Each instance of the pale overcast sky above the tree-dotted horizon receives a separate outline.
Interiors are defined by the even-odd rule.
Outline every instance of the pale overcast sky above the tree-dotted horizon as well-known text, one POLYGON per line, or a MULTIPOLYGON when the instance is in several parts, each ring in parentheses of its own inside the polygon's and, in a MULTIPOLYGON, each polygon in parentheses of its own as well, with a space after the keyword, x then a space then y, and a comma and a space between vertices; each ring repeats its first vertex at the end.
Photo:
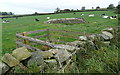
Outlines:
POLYGON ((108 7, 109 4, 118 5, 120 0, 1 0, 1 12, 13 12, 14 14, 32 14, 52 13, 58 7, 60 9, 81 9, 85 6, 86 9, 108 7))

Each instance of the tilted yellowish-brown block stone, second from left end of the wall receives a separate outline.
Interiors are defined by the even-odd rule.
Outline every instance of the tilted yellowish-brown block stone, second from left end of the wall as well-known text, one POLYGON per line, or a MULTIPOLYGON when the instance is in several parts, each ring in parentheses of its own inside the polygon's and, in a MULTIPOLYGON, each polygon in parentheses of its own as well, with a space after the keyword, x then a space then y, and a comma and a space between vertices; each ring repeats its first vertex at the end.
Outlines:
POLYGON ((9 65, 10 67, 13 67, 19 64, 19 60, 17 60, 15 57, 10 55, 9 53, 6 53, 1 60, 5 62, 7 65, 9 65))

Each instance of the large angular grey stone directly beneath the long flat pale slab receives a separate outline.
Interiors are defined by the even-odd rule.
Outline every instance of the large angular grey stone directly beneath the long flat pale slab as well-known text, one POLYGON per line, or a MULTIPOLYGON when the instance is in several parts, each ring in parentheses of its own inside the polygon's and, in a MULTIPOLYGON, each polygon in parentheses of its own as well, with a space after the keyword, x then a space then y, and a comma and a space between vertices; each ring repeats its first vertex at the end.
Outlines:
POLYGON ((60 62, 66 61, 71 56, 71 53, 69 53, 67 50, 59 49, 58 52, 55 55, 55 58, 60 62))

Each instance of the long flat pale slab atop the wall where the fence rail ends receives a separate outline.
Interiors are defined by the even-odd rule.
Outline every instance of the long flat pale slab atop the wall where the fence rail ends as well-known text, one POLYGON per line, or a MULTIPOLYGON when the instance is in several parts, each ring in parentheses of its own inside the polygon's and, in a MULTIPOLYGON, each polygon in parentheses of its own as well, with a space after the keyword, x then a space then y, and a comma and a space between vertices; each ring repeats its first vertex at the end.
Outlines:
POLYGON ((63 44, 57 44, 54 46, 55 48, 58 48, 58 49, 66 49, 70 52, 73 52, 74 50, 76 50, 77 48, 74 47, 74 46, 70 46, 70 45, 63 45, 63 44))

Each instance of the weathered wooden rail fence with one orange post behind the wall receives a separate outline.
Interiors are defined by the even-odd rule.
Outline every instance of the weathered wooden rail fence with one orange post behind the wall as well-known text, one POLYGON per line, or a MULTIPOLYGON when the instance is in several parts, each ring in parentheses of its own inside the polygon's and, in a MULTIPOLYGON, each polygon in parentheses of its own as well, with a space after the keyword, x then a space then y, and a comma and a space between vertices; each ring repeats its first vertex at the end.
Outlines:
MULTIPOLYGON (((66 31, 66 30, 57 30, 57 29, 44 29, 44 30, 37 30, 37 31, 30 31, 30 32, 23 32, 23 33, 16 33, 16 44, 17 47, 21 47, 21 46, 25 46, 28 49, 31 50, 40 50, 36 47, 32 47, 31 45, 46 45, 48 47, 54 48, 54 44, 51 43, 50 41, 56 41, 56 42, 61 42, 61 43, 66 43, 65 41, 59 39, 59 40, 52 40, 51 36, 51 32, 63 32, 63 33, 74 33, 74 34, 83 34, 81 32, 74 32, 74 31, 66 31), (40 33, 40 32, 47 32, 46 34, 41 34, 39 36, 34 36, 34 37, 28 37, 28 34, 33 34, 33 33, 40 33), (39 40, 38 38, 42 38, 42 37, 47 37, 48 41, 42 41, 39 40), (22 41, 20 41, 21 39, 22 41), (23 43, 24 42, 24 43, 23 43), (29 44, 28 44, 29 43, 29 44)), ((78 39, 79 35, 67 35, 67 34, 55 34, 58 37, 67 37, 67 38, 73 38, 73 39, 78 39)))

